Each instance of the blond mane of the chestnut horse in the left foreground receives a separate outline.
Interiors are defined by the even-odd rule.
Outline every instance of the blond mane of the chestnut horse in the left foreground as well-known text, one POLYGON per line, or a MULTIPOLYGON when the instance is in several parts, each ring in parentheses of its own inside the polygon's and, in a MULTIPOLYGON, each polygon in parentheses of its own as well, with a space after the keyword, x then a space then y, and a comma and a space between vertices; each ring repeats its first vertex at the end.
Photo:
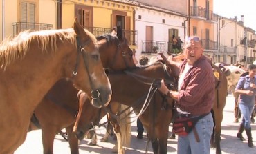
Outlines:
MULTIPOLYGON (((16 59, 22 59, 31 44, 38 44, 42 52, 57 50, 57 40, 71 40, 75 43, 75 32, 72 28, 66 30, 42 30, 42 31, 31 31, 25 30, 20 32, 17 37, 13 39, 7 37, 0 44, 0 67, 6 68, 8 64, 12 63, 16 59)), ((76 44, 75 44, 76 46, 76 44)))

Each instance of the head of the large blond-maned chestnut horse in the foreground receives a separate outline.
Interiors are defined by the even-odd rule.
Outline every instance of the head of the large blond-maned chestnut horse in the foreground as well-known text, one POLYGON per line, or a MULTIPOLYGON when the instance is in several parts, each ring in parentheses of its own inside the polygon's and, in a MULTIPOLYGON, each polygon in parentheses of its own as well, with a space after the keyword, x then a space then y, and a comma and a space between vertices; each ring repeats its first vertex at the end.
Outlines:
MULTIPOLYGON (((79 89, 89 95, 92 104, 101 107, 109 104, 111 99, 111 86, 104 72, 96 38, 88 30, 84 30, 77 18, 73 24, 76 35, 77 52, 73 82, 79 89), (86 70, 86 71, 84 71, 86 70)), ((68 57, 66 57, 68 58, 68 57)))

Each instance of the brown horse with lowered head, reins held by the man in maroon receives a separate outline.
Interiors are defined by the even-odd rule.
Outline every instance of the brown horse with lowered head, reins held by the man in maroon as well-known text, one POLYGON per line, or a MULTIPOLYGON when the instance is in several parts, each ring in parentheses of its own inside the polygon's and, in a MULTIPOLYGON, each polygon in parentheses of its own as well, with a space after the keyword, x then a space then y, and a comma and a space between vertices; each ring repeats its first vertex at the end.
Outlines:
MULTIPOLYGON (((167 77, 165 68, 161 63, 134 68, 134 70, 126 70, 122 73, 109 74, 109 81, 111 81, 113 90, 109 110, 116 114, 120 104, 131 106, 147 130, 154 153, 167 153, 168 129, 172 119, 172 106, 174 102, 171 98, 164 97, 157 90, 160 79, 166 80, 166 78, 170 79, 170 77, 167 77), (165 99, 167 99, 167 104, 163 102, 165 99)), ((173 85, 174 81, 169 81, 169 83, 173 85)), ((82 110, 80 106, 77 122, 74 127, 74 131, 76 131, 77 138, 79 139, 82 139, 91 128, 91 122, 96 122, 97 124, 101 117, 106 114, 104 111, 101 111, 102 109, 90 107, 89 101, 86 101, 84 103, 86 105, 84 105, 82 110), (96 114, 91 115, 92 113, 96 114)), ((114 116, 109 116, 109 120, 113 125, 118 142, 120 142, 119 137, 122 133, 120 132, 118 122, 114 116)), ((119 154, 124 153, 124 151, 120 151, 121 147, 118 148, 119 154)))

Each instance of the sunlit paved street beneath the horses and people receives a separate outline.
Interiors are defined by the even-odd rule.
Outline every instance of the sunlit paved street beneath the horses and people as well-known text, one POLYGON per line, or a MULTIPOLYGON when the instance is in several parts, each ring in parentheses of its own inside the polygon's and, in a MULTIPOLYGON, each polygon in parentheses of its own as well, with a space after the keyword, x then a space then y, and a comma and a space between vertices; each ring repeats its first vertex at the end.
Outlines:
MULTIPOLYGON (((248 148, 247 140, 244 142, 239 141, 237 139, 237 130, 239 123, 233 123, 233 106, 234 106, 234 98, 232 95, 228 95, 226 107, 224 109, 224 119, 222 122, 222 135, 221 135, 221 149, 223 154, 255 154, 256 152, 256 124, 252 124, 253 127, 253 144, 255 145, 254 148, 248 148)), ((241 119, 239 119, 241 120, 241 119)), ((145 149, 147 146, 147 137, 144 134, 143 139, 136 138, 136 121, 131 124, 131 146, 127 148, 125 153, 127 154, 140 154, 145 153, 145 149)), ((170 131, 172 128, 170 127, 170 131)), ((100 138, 103 137, 105 133, 104 128, 98 129, 98 146, 88 146, 87 143, 89 139, 84 139, 80 142, 80 153, 81 154, 97 154, 97 153, 104 153, 104 154, 111 154, 111 149, 115 144, 115 140, 111 137, 109 142, 100 142, 100 138)), ((171 132, 170 132, 171 133, 171 132)), ((246 137, 246 133, 244 132, 244 137, 246 137)), ((167 144, 167 151, 168 153, 176 153, 176 139, 168 139, 167 144)), ((54 149, 55 154, 69 154, 68 142, 66 142, 60 135, 56 135, 54 149)), ((147 148, 148 153, 152 153, 152 147, 149 143, 149 147, 147 148)), ((40 154, 43 153, 42 148, 42 139, 41 139, 41 131, 32 131, 28 133, 26 142, 20 146, 15 154, 40 154)), ((211 149, 211 154, 214 154, 215 150, 211 149)))

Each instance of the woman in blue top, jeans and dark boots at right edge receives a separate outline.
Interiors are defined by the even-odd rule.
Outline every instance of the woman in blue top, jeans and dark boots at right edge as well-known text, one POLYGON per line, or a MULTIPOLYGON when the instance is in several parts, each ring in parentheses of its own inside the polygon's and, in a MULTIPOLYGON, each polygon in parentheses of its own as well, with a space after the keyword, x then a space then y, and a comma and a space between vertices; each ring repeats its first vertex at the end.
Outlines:
POLYGON ((241 115, 243 118, 239 126, 239 131, 237 133, 237 138, 244 140, 242 133, 244 129, 246 130, 246 135, 248 137, 248 146, 253 147, 253 138, 251 133, 251 119, 250 115, 253 113, 255 106, 255 93, 256 93, 256 65, 250 64, 248 66, 248 75, 245 77, 240 77, 237 86, 235 88, 235 93, 239 94, 239 109, 241 110, 241 115))

